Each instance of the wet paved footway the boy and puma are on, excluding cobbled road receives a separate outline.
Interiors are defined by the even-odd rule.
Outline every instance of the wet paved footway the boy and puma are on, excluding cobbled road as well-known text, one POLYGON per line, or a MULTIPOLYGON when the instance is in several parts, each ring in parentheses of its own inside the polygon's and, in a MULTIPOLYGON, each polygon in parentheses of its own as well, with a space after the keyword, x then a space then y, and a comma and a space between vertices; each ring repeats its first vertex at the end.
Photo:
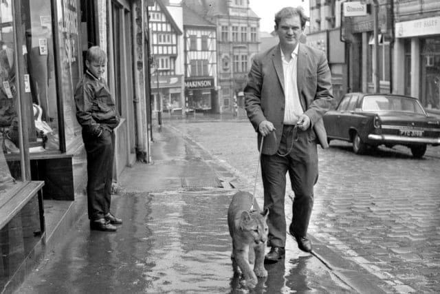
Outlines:
POLYGON ((232 272, 226 215, 236 187, 253 185, 174 127, 154 135, 153 162, 126 168, 112 198, 120 229, 90 231, 84 214, 17 293, 356 292, 292 238, 285 260, 245 288, 232 272))

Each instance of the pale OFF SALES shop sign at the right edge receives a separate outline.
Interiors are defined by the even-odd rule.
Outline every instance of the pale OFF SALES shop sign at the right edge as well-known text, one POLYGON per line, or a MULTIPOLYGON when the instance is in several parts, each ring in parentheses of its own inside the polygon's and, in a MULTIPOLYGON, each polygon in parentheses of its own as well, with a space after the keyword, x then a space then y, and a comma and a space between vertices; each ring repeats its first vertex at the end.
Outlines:
POLYGON ((440 34, 440 17, 401 21, 395 24, 397 38, 440 34))

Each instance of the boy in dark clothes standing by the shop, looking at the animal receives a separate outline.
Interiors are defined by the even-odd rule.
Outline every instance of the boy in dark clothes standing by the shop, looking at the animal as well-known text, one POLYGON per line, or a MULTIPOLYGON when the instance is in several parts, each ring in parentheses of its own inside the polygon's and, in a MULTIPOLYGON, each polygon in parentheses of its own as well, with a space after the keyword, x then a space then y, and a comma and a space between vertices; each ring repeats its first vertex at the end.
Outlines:
POLYGON ((83 127, 83 142, 87 151, 87 212, 90 229, 116 231, 120 218, 110 213, 111 182, 115 136, 119 124, 115 101, 102 75, 107 55, 94 46, 87 50, 87 70, 76 85, 76 118, 83 127))

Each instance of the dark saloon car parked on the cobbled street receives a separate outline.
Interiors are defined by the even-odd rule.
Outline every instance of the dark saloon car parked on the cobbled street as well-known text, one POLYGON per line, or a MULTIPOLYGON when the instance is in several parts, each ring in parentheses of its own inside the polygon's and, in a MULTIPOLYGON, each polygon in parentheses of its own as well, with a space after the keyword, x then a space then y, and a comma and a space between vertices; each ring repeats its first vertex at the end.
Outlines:
POLYGON ((348 93, 323 120, 329 142, 351 142, 355 154, 368 147, 404 145, 421 158, 427 145, 440 145, 440 119, 426 114, 410 96, 348 93))

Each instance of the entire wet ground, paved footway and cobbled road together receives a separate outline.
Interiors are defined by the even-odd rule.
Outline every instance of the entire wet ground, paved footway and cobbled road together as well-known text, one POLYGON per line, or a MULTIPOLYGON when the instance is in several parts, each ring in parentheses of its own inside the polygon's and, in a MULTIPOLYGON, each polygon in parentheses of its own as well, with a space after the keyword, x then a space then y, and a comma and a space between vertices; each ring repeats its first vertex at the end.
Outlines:
MULTIPOLYGON (((90 231, 84 214, 17 293, 440 292, 438 149, 421 160, 404 149, 356 156, 338 141, 319 149, 314 255, 287 238, 285 260, 248 291, 232 273, 226 213, 237 189, 254 193, 250 123, 164 120, 153 139, 153 162, 126 168, 113 196, 122 227, 90 231)), ((254 195, 262 206, 259 176, 254 195)))

